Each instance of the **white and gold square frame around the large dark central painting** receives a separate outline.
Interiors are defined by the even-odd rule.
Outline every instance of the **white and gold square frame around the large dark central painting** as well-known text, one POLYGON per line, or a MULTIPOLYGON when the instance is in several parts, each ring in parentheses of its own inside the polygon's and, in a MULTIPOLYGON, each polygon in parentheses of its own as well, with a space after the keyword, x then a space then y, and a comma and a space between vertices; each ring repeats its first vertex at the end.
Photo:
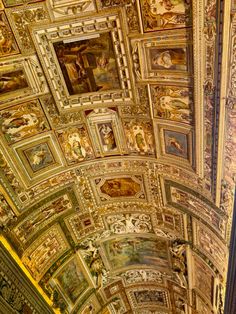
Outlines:
POLYGON ((82 105, 127 102, 132 100, 132 88, 129 75, 124 30, 118 15, 95 16, 93 19, 33 27, 32 36, 59 109, 77 108, 82 105), (117 69, 120 76, 121 89, 90 94, 69 95, 64 78, 59 69, 53 43, 63 40, 76 41, 89 39, 94 34, 110 32, 114 44, 117 69))

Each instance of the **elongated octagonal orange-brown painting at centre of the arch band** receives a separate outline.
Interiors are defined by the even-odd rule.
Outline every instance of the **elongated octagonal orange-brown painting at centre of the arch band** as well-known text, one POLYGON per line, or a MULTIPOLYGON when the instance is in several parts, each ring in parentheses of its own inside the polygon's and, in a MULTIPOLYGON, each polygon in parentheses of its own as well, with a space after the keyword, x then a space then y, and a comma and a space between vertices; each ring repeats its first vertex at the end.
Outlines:
POLYGON ((140 192, 141 187, 132 178, 113 178, 106 180, 100 190, 110 197, 129 197, 140 192))

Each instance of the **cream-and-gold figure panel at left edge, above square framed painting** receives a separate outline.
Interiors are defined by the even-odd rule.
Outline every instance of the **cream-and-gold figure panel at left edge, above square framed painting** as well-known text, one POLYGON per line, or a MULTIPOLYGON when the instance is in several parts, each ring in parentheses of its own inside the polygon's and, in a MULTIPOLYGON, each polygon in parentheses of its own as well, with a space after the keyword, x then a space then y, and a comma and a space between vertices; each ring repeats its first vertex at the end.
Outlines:
POLYGON ((0 112, 0 126, 9 143, 50 129, 37 101, 13 106, 0 112))

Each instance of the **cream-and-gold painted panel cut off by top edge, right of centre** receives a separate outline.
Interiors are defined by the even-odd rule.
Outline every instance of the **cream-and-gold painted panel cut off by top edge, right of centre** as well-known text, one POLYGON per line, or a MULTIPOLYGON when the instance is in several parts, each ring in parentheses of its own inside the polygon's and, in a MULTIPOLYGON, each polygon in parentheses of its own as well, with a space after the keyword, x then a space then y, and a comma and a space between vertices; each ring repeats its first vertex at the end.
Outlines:
POLYGON ((191 0, 141 0, 146 32, 190 25, 191 0))

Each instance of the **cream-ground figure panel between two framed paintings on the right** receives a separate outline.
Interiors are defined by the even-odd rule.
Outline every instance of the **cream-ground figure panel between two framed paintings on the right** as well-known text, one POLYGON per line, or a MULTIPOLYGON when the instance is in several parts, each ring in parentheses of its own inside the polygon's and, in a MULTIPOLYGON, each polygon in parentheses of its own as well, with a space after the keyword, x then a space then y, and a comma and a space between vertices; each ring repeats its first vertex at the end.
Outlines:
POLYGON ((189 88, 152 86, 151 94, 156 118, 191 123, 192 95, 189 88))

